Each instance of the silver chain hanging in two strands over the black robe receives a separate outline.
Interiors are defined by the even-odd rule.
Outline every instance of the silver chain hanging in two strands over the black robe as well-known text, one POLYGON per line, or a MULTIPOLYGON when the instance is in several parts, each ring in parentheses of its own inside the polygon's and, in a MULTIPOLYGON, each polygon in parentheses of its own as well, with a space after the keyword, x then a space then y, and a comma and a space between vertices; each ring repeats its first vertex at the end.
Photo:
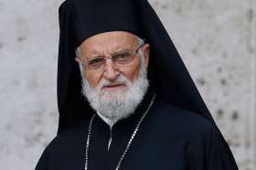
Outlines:
MULTIPOLYGON (((152 100, 151 100, 149 106, 147 107, 146 111, 144 112, 144 115, 142 115, 142 117, 141 117, 139 123, 136 125, 136 127, 135 127, 135 129, 134 129, 134 131, 133 131, 133 135, 131 136, 131 138, 130 138, 128 144, 126 145, 126 148, 125 148, 125 150, 124 150, 124 152, 123 152, 123 155, 121 156, 120 160, 118 161, 118 164, 116 165, 115 170, 119 170, 119 169, 120 169, 121 164, 122 164, 122 162, 123 162, 123 159, 124 159, 125 155, 127 154, 128 150, 129 150, 129 148, 130 148, 130 146, 132 145, 134 136, 137 134, 137 131, 139 130, 140 125, 141 125, 142 122, 144 121, 145 115, 147 115, 149 109, 151 108, 151 106, 153 105, 153 103, 154 103, 154 101, 155 101, 155 96, 156 96, 156 95, 154 94, 154 96, 153 96, 153 98, 152 98, 152 100)), ((85 170, 88 169, 88 151, 89 151, 90 138, 91 138, 91 125, 92 125, 92 122, 93 122, 93 120, 94 120, 94 117, 95 117, 95 114, 92 115, 92 117, 91 117, 91 122, 90 122, 89 129, 88 129, 88 135, 87 135, 87 141, 86 141, 86 151, 85 151, 85 167, 84 167, 85 170)))

